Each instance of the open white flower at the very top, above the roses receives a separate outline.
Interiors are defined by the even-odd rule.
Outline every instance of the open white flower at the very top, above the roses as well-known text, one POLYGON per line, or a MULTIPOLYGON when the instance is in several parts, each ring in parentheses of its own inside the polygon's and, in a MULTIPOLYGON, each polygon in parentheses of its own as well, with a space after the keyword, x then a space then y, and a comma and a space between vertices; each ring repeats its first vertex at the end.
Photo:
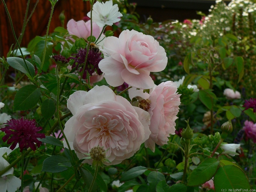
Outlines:
MULTIPOLYGON (((87 13, 87 16, 91 18, 91 12, 87 13)), ((113 23, 120 21, 118 17, 122 16, 122 13, 118 11, 117 4, 113 5, 112 0, 106 3, 97 1, 92 8, 92 21, 97 23, 99 27, 112 26, 113 23)))

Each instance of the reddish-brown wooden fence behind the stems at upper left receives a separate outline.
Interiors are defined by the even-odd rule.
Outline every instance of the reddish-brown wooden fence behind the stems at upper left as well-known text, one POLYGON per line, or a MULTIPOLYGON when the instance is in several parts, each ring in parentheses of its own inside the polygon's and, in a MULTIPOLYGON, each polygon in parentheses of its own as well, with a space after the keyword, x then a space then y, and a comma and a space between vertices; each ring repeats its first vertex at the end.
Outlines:
MULTIPOLYGON (((37 0, 4 0, 8 11, 10 12, 13 28, 17 38, 20 36, 22 30, 28 2, 30 2, 28 6, 29 16, 36 4, 36 1, 37 0)), ((87 12, 90 11, 90 3, 89 1, 84 2, 82 0, 59 0, 54 7, 49 33, 53 32, 54 28, 61 26, 59 15, 63 10, 66 17, 64 22, 64 27, 66 28, 68 20, 74 19, 78 21, 83 19, 87 12)), ((44 36, 46 34, 50 12, 50 1, 38 0, 35 11, 28 21, 21 46, 27 46, 29 41, 35 36, 44 36)), ((15 39, 2 1, 0 1, 0 26, 0 57, 6 57, 11 45, 15 44, 15 39)))

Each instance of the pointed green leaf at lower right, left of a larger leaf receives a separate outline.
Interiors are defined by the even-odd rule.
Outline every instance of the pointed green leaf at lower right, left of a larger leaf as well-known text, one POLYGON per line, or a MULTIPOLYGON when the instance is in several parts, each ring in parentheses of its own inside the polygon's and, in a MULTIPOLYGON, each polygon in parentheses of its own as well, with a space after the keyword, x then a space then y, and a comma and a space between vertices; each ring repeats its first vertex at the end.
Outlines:
POLYGON ((201 164, 194 169, 188 178, 188 186, 202 185, 206 181, 212 179, 213 175, 218 169, 219 161, 215 158, 204 160, 201 164))

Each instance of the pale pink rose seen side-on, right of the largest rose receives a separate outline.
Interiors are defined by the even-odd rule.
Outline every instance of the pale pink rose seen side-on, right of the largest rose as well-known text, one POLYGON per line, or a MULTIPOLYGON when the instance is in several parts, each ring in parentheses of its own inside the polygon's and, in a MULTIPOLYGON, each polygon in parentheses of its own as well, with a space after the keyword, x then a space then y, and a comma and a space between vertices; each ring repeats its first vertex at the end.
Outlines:
POLYGON ((131 99, 137 95, 151 100, 148 109, 151 134, 145 142, 145 146, 155 151, 155 143, 160 146, 167 144, 169 135, 175 134, 180 94, 177 93, 177 85, 172 81, 167 81, 155 86, 149 91, 149 94, 143 93, 143 90, 136 90, 136 88, 129 89, 131 99))

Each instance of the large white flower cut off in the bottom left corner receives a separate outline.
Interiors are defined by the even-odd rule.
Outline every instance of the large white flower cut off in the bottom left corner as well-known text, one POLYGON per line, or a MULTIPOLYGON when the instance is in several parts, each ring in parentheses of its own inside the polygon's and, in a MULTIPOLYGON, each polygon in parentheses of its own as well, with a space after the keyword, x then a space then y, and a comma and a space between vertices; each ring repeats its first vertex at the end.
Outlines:
MULTIPOLYGON (((11 153, 11 149, 3 147, 0 148, 0 171, 2 171, 5 167, 10 165, 4 158, 3 155, 7 153, 11 153)), ((13 176, 13 168, 9 169, 3 175, 0 175, 0 192, 12 192, 17 191, 18 188, 21 186, 21 180, 15 176, 13 176)))

